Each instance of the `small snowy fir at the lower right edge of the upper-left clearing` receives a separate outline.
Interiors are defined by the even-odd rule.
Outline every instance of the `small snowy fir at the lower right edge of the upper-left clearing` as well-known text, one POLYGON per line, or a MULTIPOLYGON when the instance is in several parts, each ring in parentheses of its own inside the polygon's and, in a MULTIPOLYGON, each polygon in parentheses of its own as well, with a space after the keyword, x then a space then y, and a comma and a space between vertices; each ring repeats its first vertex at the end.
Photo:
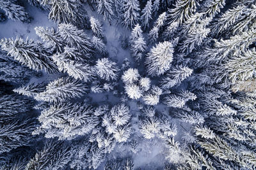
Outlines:
POLYGON ((35 31, 49 48, 56 49, 58 52, 63 51, 64 42, 61 40, 60 34, 55 32, 53 28, 35 27, 35 31))

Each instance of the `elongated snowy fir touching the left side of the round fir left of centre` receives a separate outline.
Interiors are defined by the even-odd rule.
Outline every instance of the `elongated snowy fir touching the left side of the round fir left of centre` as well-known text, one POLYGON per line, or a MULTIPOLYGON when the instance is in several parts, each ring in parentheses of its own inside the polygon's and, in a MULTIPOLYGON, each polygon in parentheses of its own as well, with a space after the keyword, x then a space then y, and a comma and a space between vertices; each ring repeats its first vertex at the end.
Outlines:
POLYGON ((69 59, 66 53, 56 53, 52 56, 59 71, 67 72, 69 76, 84 82, 93 80, 95 70, 85 62, 69 59))

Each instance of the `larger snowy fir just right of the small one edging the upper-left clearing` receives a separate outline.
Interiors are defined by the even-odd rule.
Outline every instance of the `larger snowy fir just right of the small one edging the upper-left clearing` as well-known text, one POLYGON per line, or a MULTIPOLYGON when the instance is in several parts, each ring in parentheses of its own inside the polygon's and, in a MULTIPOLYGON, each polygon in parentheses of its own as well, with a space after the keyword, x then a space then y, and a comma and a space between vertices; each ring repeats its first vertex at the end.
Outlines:
POLYGON ((60 24, 58 25, 58 31, 60 32, 62 40, 67 43, 69 47, 77 48, 85 54, 93 52, 90 38, 83 30, 77 29, 76 26, 71 24, 60 24))

